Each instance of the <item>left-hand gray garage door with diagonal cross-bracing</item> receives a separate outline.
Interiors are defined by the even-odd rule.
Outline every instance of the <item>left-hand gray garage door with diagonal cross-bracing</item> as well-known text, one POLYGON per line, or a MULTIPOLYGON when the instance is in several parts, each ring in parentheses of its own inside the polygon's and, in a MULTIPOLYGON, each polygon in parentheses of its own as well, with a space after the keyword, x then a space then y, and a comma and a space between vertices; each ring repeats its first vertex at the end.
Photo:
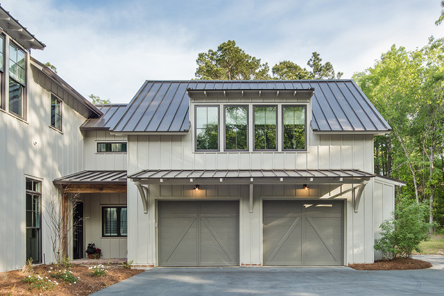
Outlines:
POLYGON ((160 266, 239 265, 239 202, 158 202, 160 266))

